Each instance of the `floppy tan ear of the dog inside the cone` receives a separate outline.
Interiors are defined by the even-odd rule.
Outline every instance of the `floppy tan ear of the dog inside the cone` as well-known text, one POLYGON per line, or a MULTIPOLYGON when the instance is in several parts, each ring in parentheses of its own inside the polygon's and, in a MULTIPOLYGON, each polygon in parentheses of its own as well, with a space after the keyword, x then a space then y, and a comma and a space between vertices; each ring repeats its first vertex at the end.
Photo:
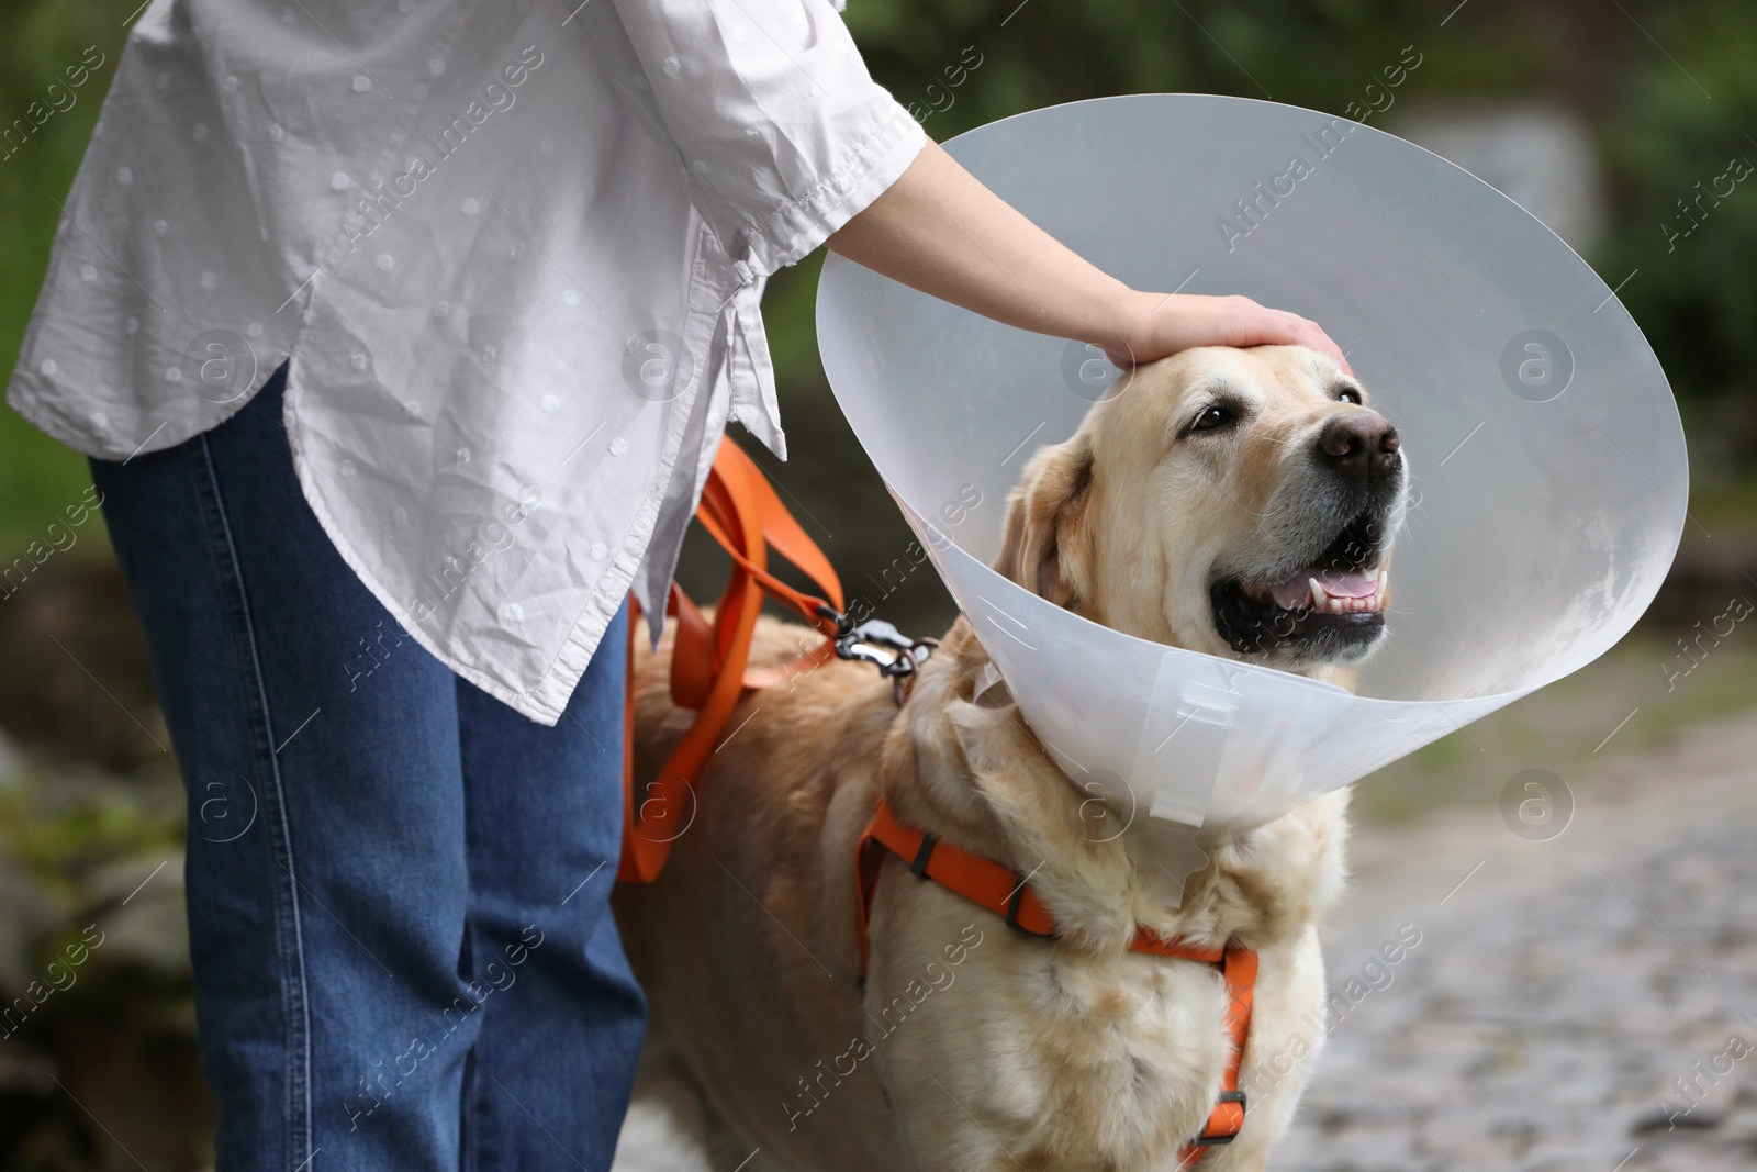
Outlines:
POLYGON ((1007 536, 994 569, 1056 606, 1091 597, 1091 483, 1093 445, 1084 432, 1033 455, 1007 501, 1007 536))

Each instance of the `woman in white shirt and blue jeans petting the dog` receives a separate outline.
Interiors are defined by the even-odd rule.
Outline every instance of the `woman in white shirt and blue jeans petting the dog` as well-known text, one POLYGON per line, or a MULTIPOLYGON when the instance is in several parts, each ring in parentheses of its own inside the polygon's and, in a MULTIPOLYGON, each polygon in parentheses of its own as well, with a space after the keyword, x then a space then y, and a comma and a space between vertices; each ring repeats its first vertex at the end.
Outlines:
POLYGON ((729 418, 784 453, 770 272, 1341 358, 1061 248, 824 0, 153 0, 65 209, 9 401, 91 457, 148 631, 249 1172, 610 1163, 624 597, 659 620, 729 418))

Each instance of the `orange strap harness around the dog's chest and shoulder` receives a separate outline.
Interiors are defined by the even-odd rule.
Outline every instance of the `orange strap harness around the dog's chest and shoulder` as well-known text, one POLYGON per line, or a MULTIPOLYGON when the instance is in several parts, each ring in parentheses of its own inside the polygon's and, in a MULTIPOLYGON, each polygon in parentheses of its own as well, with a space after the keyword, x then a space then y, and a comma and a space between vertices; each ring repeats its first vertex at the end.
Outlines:
MULTIPOLYGON (((861 893, 861 973, 866 972, 866 922, 871 917, 873 893, 878 889, 878 868, 884 865, 884 852, 908 863, 910 873, 917 879, 931 879, 942 887, 949 887, 1007 921, 1009 928, 1030 937, 1056 937, 1056 919, 1044 907, 1044 901, 1017 872, 1001 866, 994 859, 965 850, 958 843, 944 842, 921 828, 908 826, 896 817, 891 803, 878 799, 873 821, 861 835, 856 849, 856 882, 861 893)), ((1251 993, 1256 988, 1256 952, 1237 945, 1223 949, 1198 949, 1181 940, 1167 940, 1158 933, 1139 928, 1130 945, 1133 952, 1151 952, 1186 961, 1202 961, 1219 970, 1226 982, 1226 1035, 1232 1038, 1232 1053, 1221 1070, 1221 1091, 1209 1112, 1202 1133, 1184 1146, 1181 1165, 1189 1163, 1204 1147, 1230 1144, 1239 1128, 1244 1126, 1246 1098, 1239 1089, 1239 1067, 1244 1061, 1244 1044, 1251 1033, 1251 993)))

